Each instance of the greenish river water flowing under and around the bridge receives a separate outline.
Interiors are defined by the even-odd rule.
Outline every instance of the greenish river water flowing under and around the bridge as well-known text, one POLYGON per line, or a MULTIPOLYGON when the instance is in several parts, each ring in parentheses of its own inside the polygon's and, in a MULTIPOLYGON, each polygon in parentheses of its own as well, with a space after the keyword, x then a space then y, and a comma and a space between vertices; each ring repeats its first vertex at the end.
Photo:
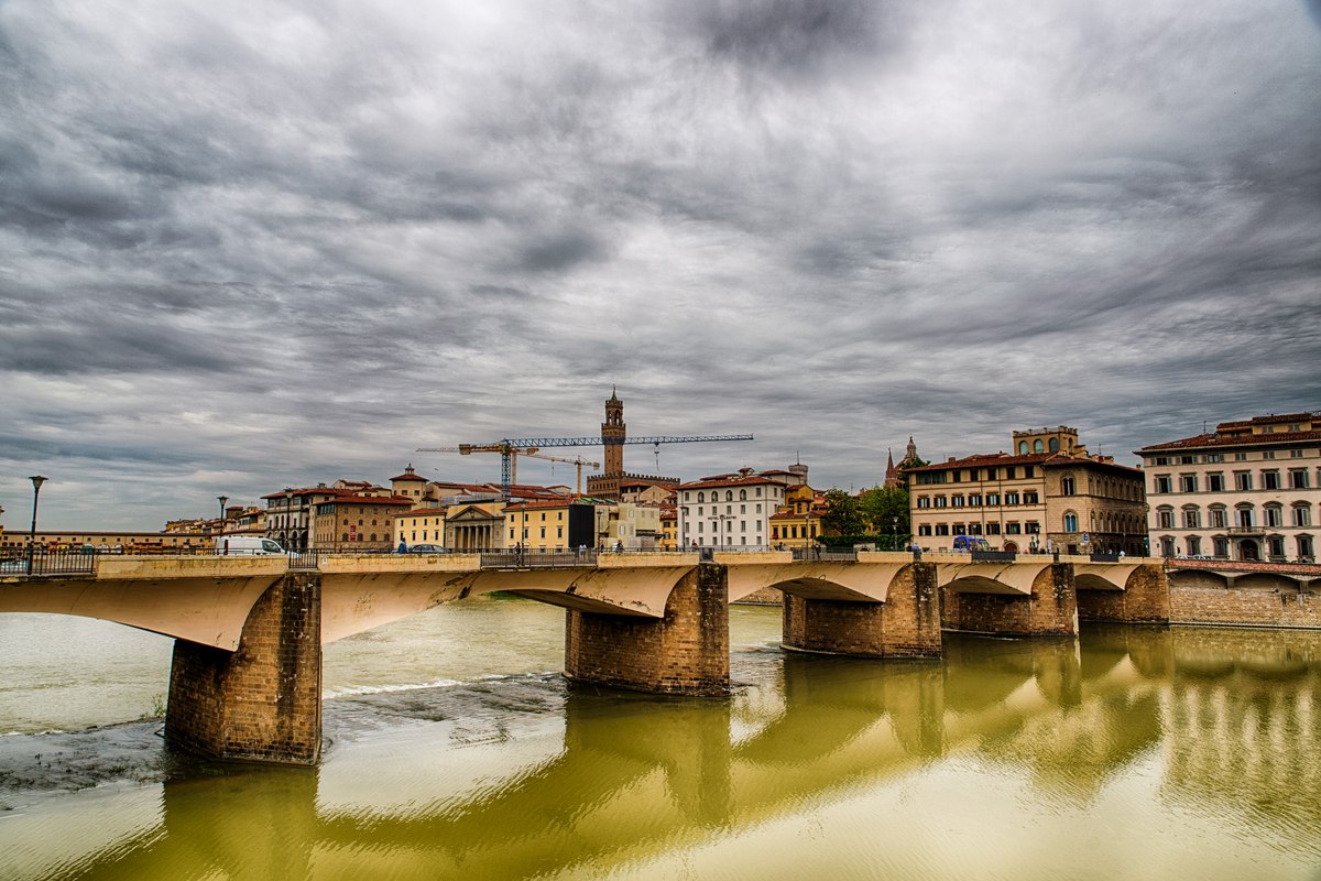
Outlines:
POLYGON ((1318 633, 731 630, 732 699, 660 699, 567 684, 556 609, 440 606, 326 647, 280 769, 164 748, 170 641, 0 616, 0 878, 1321 878, 1318 633))

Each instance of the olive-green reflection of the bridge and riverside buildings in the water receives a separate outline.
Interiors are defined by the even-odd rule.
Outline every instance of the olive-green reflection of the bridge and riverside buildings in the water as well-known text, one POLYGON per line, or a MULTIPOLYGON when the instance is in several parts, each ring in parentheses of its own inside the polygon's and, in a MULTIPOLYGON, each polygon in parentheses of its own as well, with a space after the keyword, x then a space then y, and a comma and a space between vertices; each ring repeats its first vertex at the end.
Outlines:
POLYGON ((783 655, 733 701, 567 687, 563 749, 501 779, 440 794, 419 769, 390 803, 318 804, 333 767, 194 773, 164 785, 160 828, 85 868, 552 874, 696 847, 964 752, 1082 806, 1155 759, 1161 798, 1301 836, 1321 828, 1318 659, 1321 634, 1098 627, 1081 643, 954 638, 937 662, 783 655))

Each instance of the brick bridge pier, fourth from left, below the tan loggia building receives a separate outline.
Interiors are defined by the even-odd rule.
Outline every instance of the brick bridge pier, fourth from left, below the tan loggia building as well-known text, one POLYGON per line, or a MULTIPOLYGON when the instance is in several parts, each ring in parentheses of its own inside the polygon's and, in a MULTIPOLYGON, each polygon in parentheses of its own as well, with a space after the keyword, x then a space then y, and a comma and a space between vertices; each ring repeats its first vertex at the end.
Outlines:
POLYGON ((1045 567, 1028 596, 945 592, 945 626, 1004 637, 1077 637, 1078 592, 1071 563, 1045 567))

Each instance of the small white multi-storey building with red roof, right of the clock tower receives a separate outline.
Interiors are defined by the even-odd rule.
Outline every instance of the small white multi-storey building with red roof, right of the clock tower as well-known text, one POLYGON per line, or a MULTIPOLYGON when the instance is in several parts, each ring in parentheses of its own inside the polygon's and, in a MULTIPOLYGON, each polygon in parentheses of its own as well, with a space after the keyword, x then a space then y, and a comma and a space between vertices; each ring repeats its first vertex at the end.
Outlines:
POLYGON ((679 547, 770 544, 770 515, 785 503, 785 483, 750 468, 680 483, 679 547))

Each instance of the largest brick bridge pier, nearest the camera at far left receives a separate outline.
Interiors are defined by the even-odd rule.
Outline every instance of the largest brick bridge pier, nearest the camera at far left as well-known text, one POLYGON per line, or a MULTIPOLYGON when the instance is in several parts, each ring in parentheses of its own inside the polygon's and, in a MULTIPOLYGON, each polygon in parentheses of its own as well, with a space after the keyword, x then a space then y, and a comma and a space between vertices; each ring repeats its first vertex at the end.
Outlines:
POLYGON ((316 765, 320 575, 291 573, 271 585, 234 652, 174 641, 165 740, 210 758, 316 765))

